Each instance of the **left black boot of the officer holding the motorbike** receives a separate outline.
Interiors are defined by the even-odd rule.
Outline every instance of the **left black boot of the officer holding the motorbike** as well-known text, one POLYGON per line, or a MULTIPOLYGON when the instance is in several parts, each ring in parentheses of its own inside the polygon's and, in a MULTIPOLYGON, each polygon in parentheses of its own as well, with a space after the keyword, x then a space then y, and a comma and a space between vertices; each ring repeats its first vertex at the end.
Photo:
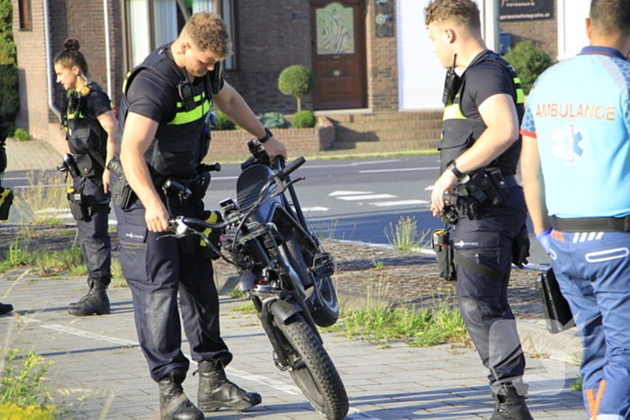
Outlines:
POLYGON ((166 377, 157 382, 160 420, 203 420, 205 418, 184 394, 182 382, 185 379, 186 371, 179 368, 169 371, 166 377))

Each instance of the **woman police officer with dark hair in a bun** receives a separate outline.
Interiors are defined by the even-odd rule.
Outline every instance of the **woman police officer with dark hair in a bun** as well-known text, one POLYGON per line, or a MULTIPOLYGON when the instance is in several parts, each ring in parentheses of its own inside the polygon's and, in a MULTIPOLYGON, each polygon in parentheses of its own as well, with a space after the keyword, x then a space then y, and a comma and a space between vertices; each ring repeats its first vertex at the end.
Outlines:
POLYGON ((68 312, 77 317, 111 312, 107 286, 112 280, 110 171, 107 163, 116 151, 118 128, 112 103, 103 89, 87 79, 85 56, 78 40, 68 39, 54 60, 57 83, 66 89, 61 107, 61 125, 72 155, 59 169, 73 177, 68 190, 70 210, 76 219, 78 237, 88 277, 87 294, 70 303, 68 312))

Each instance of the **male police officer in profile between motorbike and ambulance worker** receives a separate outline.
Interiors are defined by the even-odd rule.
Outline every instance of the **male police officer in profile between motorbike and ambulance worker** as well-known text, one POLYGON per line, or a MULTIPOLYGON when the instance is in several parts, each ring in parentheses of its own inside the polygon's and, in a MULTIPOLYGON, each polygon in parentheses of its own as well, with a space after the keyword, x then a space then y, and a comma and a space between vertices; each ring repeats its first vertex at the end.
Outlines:
POLYGON ((507 297, 513 239, 527 219, 514 176, 524 94, 514 69, 482 40, 479 8, 472 0, 433 0, 425 22, 437 58, 450 68, 438 145, 442 174, 431 193, 431 210, 440 216, 445 193, 455 195, 455 290, 490 370, 491 419, 530 419, 522 381, 525 357, 507 297))

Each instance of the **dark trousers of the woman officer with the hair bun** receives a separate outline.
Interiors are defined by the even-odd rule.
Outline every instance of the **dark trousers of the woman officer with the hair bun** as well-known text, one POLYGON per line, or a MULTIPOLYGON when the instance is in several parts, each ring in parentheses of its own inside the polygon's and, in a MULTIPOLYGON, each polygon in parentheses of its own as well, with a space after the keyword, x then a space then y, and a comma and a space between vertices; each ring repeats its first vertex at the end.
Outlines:
POLYGON ((89 221, 76 220, 79 244, 87 272, 90 277, 103 281, 107 286, 112 277, 112 242, 107 232, 112 194, 104 192, 101 176, 76 177, 74 187, 76 191, 83 189, 85 204, 90 214, 89 221))

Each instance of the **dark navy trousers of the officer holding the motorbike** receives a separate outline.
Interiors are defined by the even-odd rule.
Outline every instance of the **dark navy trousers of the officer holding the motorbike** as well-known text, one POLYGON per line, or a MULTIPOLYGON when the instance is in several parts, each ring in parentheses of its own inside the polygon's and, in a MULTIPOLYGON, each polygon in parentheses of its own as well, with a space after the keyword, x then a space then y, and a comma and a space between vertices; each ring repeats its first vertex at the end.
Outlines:
MULTIPOLYGON (((202 216, 201 201, 195 204, 176 197, 168 200, 174 216, 202 216)), ((139 344, 151 378, 162 380, 169 371, 189 367, 181 350, 178 293, 193 361, 209 361, 227 352, 228 346, 220 337, 219 296, 212 262, 199 254, 201 238, 177 239, 173 232, 148 231, 145 209, 137 198, 133 199, 129 210, 118 206, 115 210, 122 274, 133 295, 139 344)))

